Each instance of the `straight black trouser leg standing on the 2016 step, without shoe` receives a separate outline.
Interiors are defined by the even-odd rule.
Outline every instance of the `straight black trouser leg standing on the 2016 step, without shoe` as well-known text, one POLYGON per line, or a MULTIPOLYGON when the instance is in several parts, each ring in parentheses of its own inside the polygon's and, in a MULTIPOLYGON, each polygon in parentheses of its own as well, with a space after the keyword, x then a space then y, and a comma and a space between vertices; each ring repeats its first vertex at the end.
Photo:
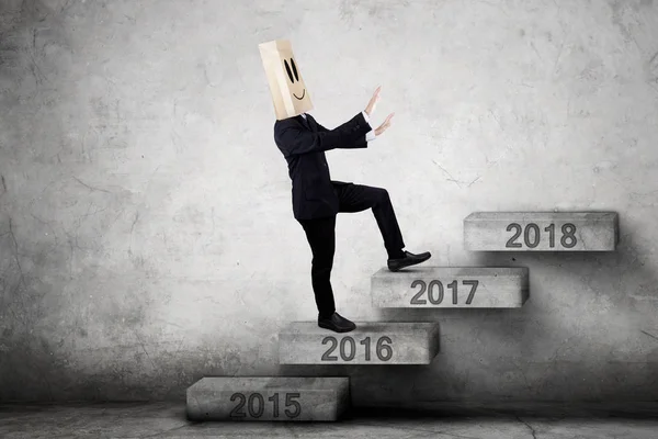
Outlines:
POLYGON ((336 216, 316 219, 299 219, 313 252, 310 279, 320 317, 336 312, 331 289, 331 268, 336 251, 336 216))

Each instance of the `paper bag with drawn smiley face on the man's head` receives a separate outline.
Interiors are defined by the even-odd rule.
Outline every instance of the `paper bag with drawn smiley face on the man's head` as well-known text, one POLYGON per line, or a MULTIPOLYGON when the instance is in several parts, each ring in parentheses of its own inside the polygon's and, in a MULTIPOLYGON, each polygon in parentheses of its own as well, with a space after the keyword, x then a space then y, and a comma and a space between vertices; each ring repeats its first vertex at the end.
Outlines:
POLYGON ((308 90, 287 40, 258 45, 274 102, 276 119, 287 119, 313 110, 308 90))

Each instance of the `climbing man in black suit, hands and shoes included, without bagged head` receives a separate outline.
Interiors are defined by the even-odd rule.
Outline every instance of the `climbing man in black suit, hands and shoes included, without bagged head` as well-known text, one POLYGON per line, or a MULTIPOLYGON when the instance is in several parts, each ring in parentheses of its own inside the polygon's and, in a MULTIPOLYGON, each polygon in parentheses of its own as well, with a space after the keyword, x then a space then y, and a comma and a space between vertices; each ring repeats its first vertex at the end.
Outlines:
POLYGON ((382 188, 332 181, 325 151, 334 148, 366 148, 382 135, 393 114, 376 130, 370 115, 379 100, 377 88, 366 109, 350 121, 327 130, 307 113, 277 120, 274 140, 283 153, 293 183, 293 213, 304 227, 313 252, 311 283, 318 306, 318 326, 337 333, 353 330, 356 325, 336 312, 330 275, 336 248, 336 215, 372 209, 388 252, 392 271, 428 260, 431 255, 405 251, 402 235, 388 196, 382 188))

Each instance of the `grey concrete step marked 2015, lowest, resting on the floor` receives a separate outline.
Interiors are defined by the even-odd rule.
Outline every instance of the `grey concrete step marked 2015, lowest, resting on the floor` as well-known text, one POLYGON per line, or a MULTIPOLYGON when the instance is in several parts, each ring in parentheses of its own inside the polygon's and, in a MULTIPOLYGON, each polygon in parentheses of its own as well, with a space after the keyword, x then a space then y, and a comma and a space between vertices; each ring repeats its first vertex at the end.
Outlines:
POLYGON ((337 420, 349 378, 206 376, 188 389, 190 420, 337 420))

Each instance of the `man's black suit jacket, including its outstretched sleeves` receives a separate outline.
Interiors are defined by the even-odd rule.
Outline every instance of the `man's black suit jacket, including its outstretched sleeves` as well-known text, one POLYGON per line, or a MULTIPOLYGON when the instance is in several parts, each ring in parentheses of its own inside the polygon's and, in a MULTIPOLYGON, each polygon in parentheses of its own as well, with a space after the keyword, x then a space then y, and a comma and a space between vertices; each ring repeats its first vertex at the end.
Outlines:
POLYGON ((371 126, 362 113, 350 121, 327 130, 306 114, 276 121, 274 142, 283 153, 293 181, 293 214, 297 219, 336 215, 338 196, 333 191, 325 151, 334 148, 365 148, 365 134, 371 126))

